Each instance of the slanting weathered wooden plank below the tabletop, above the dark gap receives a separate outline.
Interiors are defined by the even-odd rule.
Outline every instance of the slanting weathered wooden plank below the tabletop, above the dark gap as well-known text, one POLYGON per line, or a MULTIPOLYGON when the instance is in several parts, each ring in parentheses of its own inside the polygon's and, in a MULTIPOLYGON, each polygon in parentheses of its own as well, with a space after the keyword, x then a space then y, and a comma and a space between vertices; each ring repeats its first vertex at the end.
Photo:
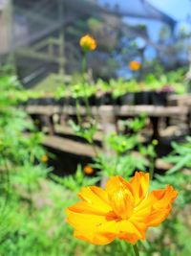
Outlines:
MULTIPOLYGON (((60 138, 59 136, 55 135, 45 135, 43 145, 58 151, 66 151, 76 155, 84 155, 89 157, 96 156, 96 152, 93 150, 91 145, 75 142, 70 139, 60 138)), ((100 148, 96 147, 96 150, 100 151, 100 148)))

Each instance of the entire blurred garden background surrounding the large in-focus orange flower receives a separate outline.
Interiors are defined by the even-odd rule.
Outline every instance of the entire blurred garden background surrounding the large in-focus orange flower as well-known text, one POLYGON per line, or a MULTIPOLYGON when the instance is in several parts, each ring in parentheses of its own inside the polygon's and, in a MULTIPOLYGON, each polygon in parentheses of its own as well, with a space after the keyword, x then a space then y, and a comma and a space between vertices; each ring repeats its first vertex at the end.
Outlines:
POLYGON ((190 256, 191 1, 0 0, 0 256, 135 256, 65 210, 136 171, 179 192, 140 256, 190 256))

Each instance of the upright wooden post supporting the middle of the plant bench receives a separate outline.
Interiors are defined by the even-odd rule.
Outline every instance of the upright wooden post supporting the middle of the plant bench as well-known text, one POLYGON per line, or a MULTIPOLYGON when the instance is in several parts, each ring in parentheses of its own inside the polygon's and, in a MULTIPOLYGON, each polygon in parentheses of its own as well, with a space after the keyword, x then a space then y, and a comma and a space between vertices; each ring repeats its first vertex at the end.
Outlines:
MULTIPOLYGON (((112 105, 102 105, 98 109, 100 123, 103 129, 104 136, 111 134, 112 132, 117 132, 117 120, 114 111, 114 106, 112 105)), ((107 156, 115 154, 114 151, 111 150, 105 138, 103 138, 103 151, 107 156)), ((108 177, 103 176, 101 178, 101 187, 104 187, 107 182, 108 177)))

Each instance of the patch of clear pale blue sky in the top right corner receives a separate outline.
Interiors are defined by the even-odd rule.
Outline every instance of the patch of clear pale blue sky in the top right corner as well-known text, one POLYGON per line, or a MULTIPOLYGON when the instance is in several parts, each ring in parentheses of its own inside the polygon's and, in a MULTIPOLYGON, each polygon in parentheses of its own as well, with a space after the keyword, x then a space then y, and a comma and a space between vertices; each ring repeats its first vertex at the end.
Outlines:
POLYGON ((155 7, 159 8, 175 18, 176 20, 185 20, 188 14, 191 15, 190 0, 147 0, 155 7))

